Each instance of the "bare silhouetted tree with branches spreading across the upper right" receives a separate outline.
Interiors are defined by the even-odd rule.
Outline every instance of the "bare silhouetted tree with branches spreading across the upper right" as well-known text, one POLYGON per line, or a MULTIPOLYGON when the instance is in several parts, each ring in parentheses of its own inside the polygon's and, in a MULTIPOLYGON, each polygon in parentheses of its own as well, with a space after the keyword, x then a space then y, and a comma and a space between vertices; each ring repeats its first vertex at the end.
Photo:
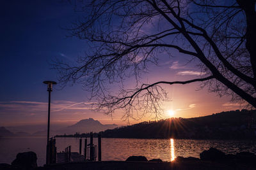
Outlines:
POLYGON ((79 1, 86 17, 69 30, 84 39, 91 51, 75 64, 57 60, 60 82, 83 83, 98 99, 97 108, 124 117, 161 114, 163 85, 201 82, 211 92, 256 107, 255 0, 94 0, 79 1), (148 31, 150 27, 150 31, 148 31), (142 73, 163 52, 179 51, 193 60, 201 77, 187 81, 143 83, 142 73), (134 76, 134 89, 108 90, 134 76))

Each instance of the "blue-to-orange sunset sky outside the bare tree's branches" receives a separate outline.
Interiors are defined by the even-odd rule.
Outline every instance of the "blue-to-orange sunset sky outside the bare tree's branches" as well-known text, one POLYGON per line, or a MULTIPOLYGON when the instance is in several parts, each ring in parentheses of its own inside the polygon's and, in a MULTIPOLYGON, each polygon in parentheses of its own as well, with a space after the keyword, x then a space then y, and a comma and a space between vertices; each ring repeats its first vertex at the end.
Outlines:
MULTIPOLYGON (((0 46, 0 127, 47 122, 47 87, 45 80, 57 81, 52 69, 54 59, 70 62, 83 55, 87 48, 83 40, 67 37, 67 27, 84 13, 74 12, 68 1, 31 0, 1 1, 0 46)), ((189 80, 199 75, 195 67, 186 65, 180 57, 165 58, 144 80, 189 80)), ((198 90, 198 83, 165 87, 170 101, 163 105, 163 118, 200 117, 221 111, 241 109, 228 97, 218 97, 207 89, 198 90), (173 115, 168 115, 170 111, 173 115)), ((51 124, 70 125, 84 118, 94 118, 102 124, 127 125, 118 110, 113 117, 89 110, 88 93, 81 85, 54 86, 52 91, 51 124)), ((130 120, 130 124, 148 121, 150 117, 130 120)))

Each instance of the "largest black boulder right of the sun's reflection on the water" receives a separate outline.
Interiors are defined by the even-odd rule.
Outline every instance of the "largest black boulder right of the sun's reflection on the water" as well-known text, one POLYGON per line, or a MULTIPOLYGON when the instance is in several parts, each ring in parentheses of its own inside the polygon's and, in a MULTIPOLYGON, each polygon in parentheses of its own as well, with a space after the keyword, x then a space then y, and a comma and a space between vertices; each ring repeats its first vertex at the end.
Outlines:
POLYGON ((217 150, 216 148, 210 148, 200 153, 201 160, 223 160, 225 159, 225 153, 217 150))

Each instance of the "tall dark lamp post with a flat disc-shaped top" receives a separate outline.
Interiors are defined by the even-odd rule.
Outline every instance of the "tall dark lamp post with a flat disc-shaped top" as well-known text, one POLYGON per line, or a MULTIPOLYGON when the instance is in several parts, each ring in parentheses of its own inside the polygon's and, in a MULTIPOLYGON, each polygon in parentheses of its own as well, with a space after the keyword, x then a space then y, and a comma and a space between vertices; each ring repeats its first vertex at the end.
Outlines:
POLYGON ((47 91, 49 92, 48 99, 48 126, 47 126, 47 146, 46 146, 46 164, 49 164, 49 132, 50 132, 50 108, 51 108, 51 92, 52 85, 56 85, 55 81, 44 81, 47 84, 47 91))

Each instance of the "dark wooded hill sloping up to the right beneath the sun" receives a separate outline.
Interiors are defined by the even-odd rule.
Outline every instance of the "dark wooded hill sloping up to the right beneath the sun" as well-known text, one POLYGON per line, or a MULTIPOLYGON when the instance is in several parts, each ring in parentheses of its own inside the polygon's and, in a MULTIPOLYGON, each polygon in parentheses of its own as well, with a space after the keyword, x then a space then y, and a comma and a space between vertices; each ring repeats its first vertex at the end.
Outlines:
POLYGON ((256 139, 256 111, 168 118, 100 132, 103 138, 256 139))

